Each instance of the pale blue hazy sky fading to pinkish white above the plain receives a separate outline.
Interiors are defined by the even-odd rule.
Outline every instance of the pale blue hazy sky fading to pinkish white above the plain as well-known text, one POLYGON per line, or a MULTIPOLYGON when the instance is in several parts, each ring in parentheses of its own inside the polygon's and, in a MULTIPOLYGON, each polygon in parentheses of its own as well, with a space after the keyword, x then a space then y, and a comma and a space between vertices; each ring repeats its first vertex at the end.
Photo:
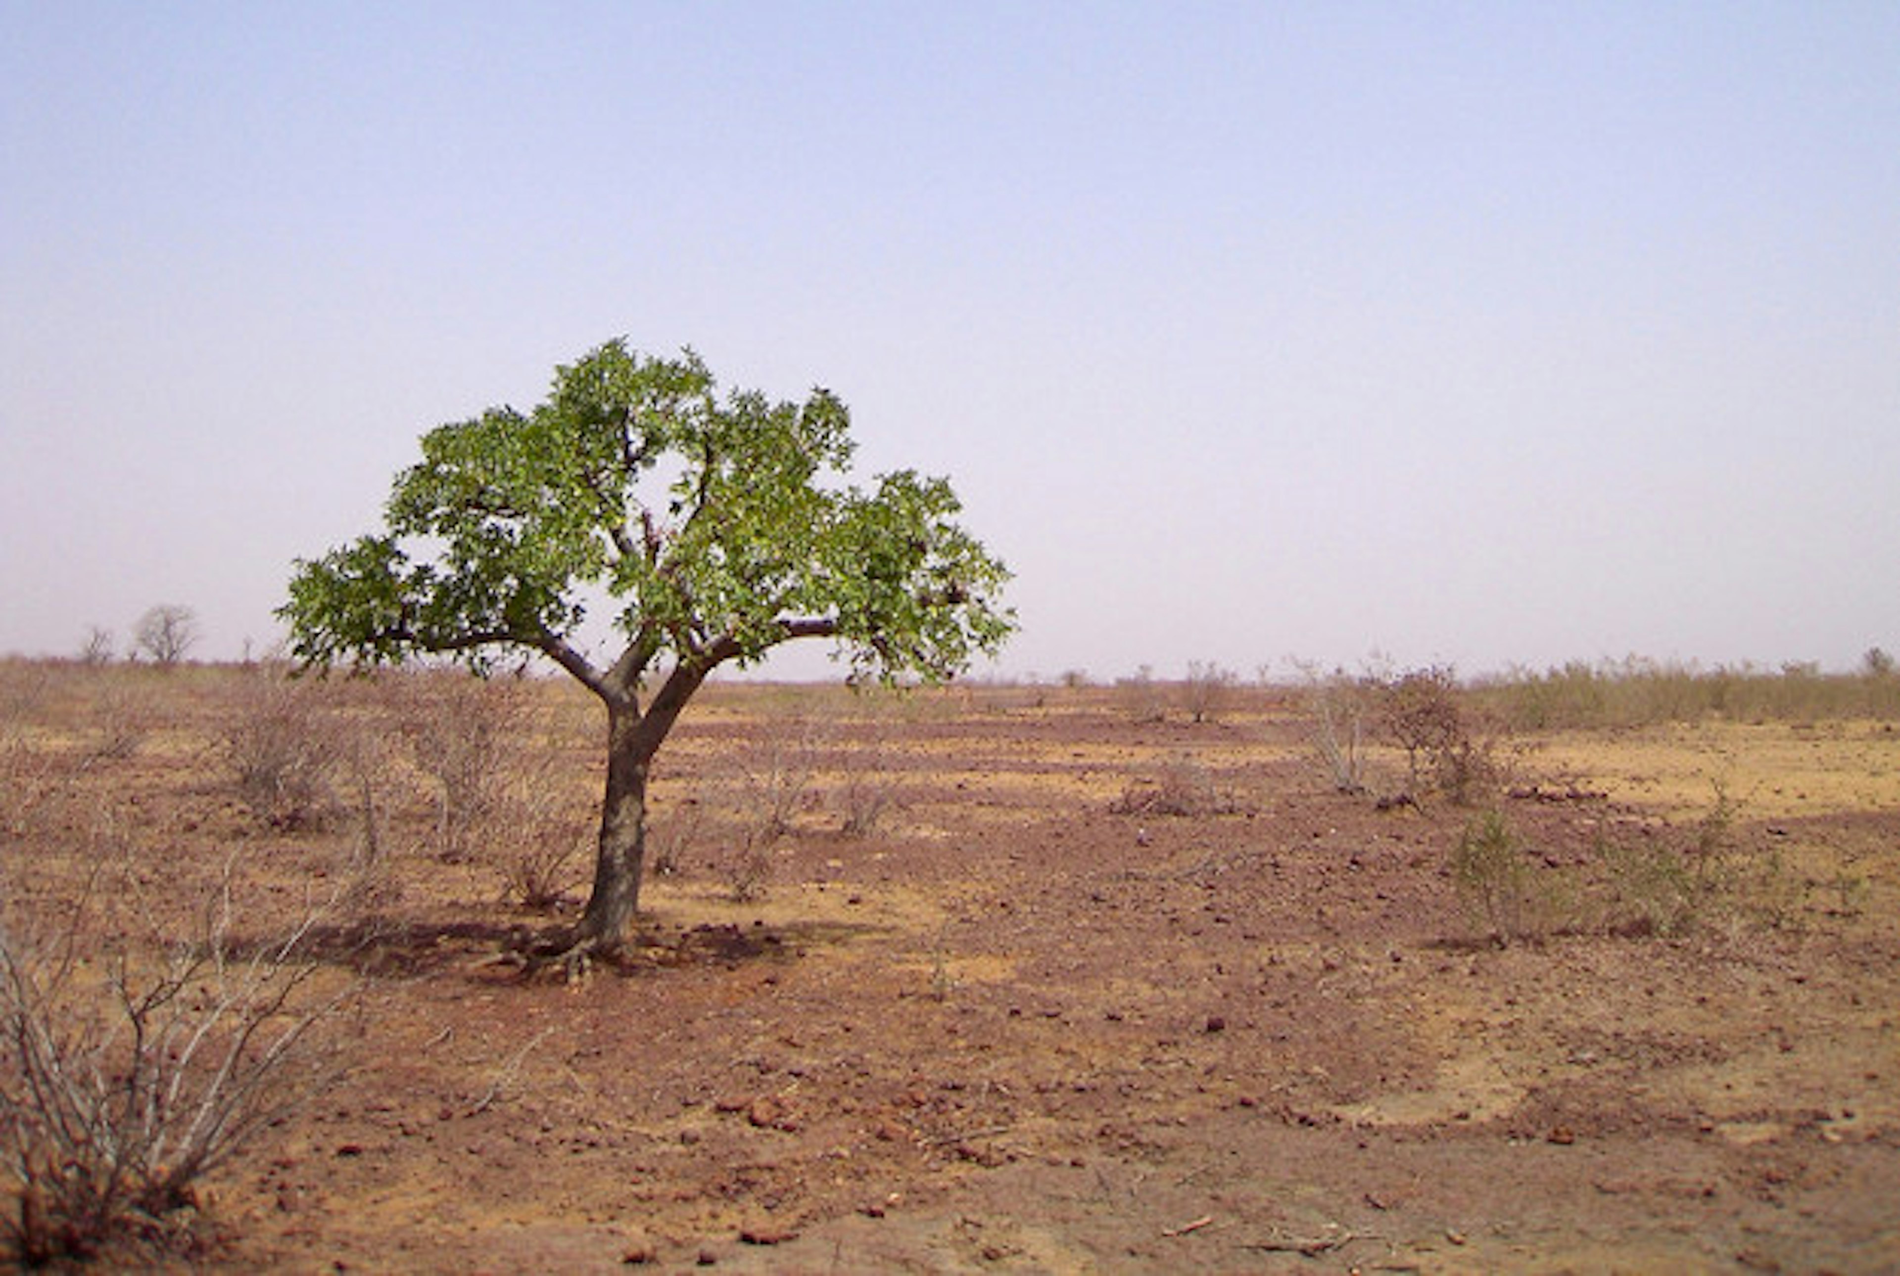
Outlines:
POLYGON ((0 17, 0 651, 270 644, 618 334, 950 475, 1005 672, 1900 647, 1900 4, 0 17))

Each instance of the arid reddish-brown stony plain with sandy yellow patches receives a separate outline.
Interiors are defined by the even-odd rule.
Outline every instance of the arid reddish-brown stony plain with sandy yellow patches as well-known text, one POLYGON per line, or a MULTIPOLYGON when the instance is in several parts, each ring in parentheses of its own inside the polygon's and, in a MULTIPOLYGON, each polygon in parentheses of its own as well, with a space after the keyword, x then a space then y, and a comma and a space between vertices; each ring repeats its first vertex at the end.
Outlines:
POLYGON ((566 980, 509 951, 585 891, 580 693, 0 689, 15 946, 156 963, 207 902, 234 951, 302 927, 287 1010, 327 1006, 342 1069, 108 1259, 1900 1265, 1892 697, 1526 725, 1461 689, 1484 765, 1450 794, 1370 708, 1341 786, 1311 685, 1195 722, 1146 682, 720 684, 659 760, 638 944, 566 980), (285 733, 310 756, 260 782, 285 733))

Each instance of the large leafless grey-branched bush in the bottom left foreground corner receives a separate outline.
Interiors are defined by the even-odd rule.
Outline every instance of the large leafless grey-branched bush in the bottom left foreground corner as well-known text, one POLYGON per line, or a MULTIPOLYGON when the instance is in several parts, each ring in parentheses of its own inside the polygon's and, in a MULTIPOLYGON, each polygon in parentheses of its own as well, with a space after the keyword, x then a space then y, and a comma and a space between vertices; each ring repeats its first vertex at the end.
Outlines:
POLYGON ((101 949, 127 934, 124 915, 87 925, 135 898, 118 887, 51 930, 0 923, 0 1173, 17 1202, 0 1227, 28 1265, 167 1234, 203 1175, 342 1073, 353 1037, 353 987, 323 991, 308 957, 319 913, 239 946, 226 873, 194 940, 101 949))

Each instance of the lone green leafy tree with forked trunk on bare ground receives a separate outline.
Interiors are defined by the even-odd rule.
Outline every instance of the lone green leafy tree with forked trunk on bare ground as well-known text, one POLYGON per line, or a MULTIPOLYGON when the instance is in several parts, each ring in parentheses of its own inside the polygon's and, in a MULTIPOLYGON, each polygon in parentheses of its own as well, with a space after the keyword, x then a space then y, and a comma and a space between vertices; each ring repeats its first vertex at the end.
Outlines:
POLYGON ((600 699, 593 891, 543 957, 612 951, 638 910, 654 756, 714 668, 828 638, 855 680, 942 680, 1015 630, 1009 573, 956 522, 950 484, 847 486, 851 450, 828 389, 720 393, 692 349, 614 340, 559 366, 532 412, 424 435, 386 530, 298 560, 277 615, 306 666, 437 653, 488 672, 528 651, 600 699), (602 600, 612 659, 580 638, 602 600))

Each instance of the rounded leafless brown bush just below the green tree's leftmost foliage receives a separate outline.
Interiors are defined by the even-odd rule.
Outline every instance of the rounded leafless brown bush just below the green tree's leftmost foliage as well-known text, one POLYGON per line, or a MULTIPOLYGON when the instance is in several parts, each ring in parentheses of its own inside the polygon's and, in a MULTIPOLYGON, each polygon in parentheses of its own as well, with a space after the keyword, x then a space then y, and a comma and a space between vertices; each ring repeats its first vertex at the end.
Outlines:
POLYGON ((321 828, 338 803, 331 788, 336 731, 319 684, 260 666, 234 684, 218 754, 251 811, 281 830, 321 828))

